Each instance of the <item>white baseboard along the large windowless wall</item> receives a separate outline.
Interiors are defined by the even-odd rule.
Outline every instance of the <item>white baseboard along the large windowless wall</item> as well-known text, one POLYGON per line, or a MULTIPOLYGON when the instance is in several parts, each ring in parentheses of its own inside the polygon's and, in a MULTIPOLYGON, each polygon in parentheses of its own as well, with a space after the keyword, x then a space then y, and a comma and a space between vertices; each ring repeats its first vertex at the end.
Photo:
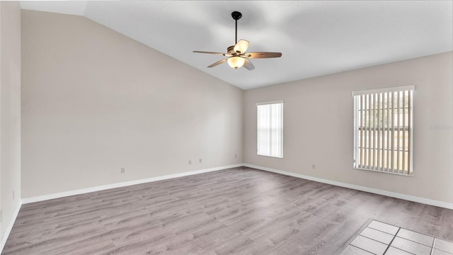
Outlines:
POLYGON ((151 177, 147 179, 139 179, 139 180, 134 180, 134 181, 125 181, 121 183, 112 183, 112 184, 107 184, 103 186, 95 186, 91 188, 81 188, 78 190, 74 191, 65 191, 61 193, 53 193, 49 195, 44 195, 44 196, 35 196, 31 198, 23 198, 22 203, 27 204, 27 203, 35 203, 35 202, 40 202, 44 200, 50 200, 50 199, 55 199, 55 198, 64 198, 67 196, 74 196, 74 195, 80 195, 84 193, 90 193, 90 192, 95 192, 95 191, 104 191, 110 188, 120 188, 120 187, 125 187, 125 186, 131 186, 131 185, 136 185, 136 184, 142 184, 142 183, 149 183, 152 181, 162 181, 166 179, 173 179, 173 178, 178 178, 178 177, 183 177, 183 176, 190 176, 193 174, 202 174, 202 173, 207 173, 210 171, 218 171, 222 169, 230 169, 234 167, 239 167, 243 166, 243 164, 234 164, 234 165, 229 165, 229 166, 218 166, 218 167, 213 167, 210 169, 201 169, 201 170, 195 170, 195 171, 188 171, 188 172, 183 172, 179 174, 169 174, 166 176, 156 176, 156 177, 151 177))

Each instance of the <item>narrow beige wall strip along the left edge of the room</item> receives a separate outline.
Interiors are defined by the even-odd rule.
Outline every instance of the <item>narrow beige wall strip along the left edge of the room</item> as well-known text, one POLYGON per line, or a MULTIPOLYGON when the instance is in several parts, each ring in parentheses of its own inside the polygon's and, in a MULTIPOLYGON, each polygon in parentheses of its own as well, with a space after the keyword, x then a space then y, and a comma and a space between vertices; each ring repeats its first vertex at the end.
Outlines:
POLYGON ((18 1, 0 1, 0 144, 0 237, 3 237, 21 205, 21 9, 18 1))

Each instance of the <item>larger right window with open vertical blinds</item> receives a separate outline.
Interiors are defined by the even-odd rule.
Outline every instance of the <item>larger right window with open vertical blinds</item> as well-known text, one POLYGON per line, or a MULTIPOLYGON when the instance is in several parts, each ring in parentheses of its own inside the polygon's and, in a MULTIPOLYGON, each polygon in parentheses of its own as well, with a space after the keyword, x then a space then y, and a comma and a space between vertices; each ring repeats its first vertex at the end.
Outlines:
POLYGON ((354 91, 354 168, 413 174, 413 90, 354 91))

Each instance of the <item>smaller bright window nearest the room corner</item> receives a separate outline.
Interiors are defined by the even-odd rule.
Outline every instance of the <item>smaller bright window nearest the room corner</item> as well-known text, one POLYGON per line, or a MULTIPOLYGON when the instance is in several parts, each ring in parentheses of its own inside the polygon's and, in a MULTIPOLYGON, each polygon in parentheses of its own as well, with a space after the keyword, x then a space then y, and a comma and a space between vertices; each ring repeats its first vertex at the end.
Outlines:
POLYGON ((283 101, 256 103, 257 154, 283 157, 283 101))

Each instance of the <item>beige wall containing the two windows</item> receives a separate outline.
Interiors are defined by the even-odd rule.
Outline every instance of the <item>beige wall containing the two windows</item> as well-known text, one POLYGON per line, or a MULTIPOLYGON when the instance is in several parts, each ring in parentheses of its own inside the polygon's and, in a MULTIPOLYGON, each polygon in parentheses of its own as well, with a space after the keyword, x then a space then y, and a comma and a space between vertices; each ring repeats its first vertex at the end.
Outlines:
POLYGON ((244 93, 244 162, 453 203, 452 52, 244 93), (352 169, 351 91, 415 85, 413 177, 352 169), (256 155, 256 102, 284 100, 284 158, 256 155), (312 164, 316 169, 312 169, 312 164))

